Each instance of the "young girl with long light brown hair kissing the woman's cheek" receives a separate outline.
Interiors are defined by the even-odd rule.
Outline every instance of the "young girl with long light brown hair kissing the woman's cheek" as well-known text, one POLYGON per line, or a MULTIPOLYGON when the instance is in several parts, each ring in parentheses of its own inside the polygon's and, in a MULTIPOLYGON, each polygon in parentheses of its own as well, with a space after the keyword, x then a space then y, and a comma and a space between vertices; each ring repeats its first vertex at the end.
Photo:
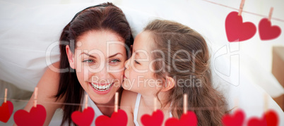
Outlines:
POLYGON ((182 115, 183 95, 198 125, 222 125, 225 99, 211 81, 209 52, 201 34, 180 23, 154 20, 137 35, 133 55, 125 63, 121 107, 128 125, 142 125, 141 116, 152 115, 154 97, 164 122, 182 115))

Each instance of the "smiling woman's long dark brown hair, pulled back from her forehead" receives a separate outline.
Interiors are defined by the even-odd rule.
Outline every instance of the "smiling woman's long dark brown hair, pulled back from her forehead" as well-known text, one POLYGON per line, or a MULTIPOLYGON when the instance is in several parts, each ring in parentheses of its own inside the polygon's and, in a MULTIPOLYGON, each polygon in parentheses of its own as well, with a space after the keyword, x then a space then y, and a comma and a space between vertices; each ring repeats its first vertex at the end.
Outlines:
MULTIPOLYGON (((56 94, 57 99, 64 98, 64 103, 81 103, 83 88, 78 82, 76 70, 70 68, 66 55, 66 45, 69 45, 71 52, 76 49, 76 40, 83 33, 95 30, 108 30, 114 32, 124 39, 126 46, 130 47, 134 38, 131 28, 122 10, 112 3, 90 6, 78 12, 71 22, 66 25, 60 37, 60 80, 59 89, 56 94)), ((126 51, 129 51, 126 49, 126 51)), ((130 52, 127 52, 130 54, 130 52)), ((61 125, 75 125, 71 120, 71 113, 78 111, 80 106, 64 105, 64 115, 61 125)))

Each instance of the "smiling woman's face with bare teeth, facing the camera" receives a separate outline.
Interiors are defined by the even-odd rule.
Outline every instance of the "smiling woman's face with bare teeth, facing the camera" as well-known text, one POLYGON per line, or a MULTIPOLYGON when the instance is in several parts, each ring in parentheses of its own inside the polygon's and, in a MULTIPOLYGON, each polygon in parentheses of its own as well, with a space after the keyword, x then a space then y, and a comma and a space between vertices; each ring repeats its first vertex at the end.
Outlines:
POLYGON ((85 32, 77 40, 75 54, 70 55, 70 65, 76 69, 78 81, 90 99, 109 103, 123 81, 124 40, 106 30, 85 32))

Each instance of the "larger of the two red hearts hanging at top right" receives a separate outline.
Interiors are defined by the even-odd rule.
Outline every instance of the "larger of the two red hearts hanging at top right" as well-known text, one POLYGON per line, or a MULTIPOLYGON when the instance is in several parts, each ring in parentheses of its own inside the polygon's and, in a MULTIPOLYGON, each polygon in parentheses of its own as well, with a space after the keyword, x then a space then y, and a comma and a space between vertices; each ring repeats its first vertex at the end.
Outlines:
POLYGON ((227 40, 229 42, 241 42, 250 39, 256 33, 256 26, 253 23, 242 23, 242 15, 232 11, 225 20, 227 40))

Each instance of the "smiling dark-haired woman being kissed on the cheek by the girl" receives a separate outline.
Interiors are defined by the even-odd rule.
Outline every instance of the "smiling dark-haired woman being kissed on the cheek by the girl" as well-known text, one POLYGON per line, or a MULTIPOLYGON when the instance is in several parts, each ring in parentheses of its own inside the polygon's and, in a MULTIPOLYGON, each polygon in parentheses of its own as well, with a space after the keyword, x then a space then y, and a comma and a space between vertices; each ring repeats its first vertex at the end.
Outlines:
MULTIPOLYGON (((49 67, 38 87, 38 102, 45 106, 49 125, 57 108, 64 110, 61 125, 73 124, 71 113, 87 93, 97 113, 112 115, 115 92, 122 92, 127 46, 133 44, 131 29, 121 9, 111 3, 85 8, 64 27, 60 37, 60 61, 49 67), (124 46, 126 45, 126 46, 124 46), (55 102, 55 103, 54 103, 55 102)), ((121 93, 120 93, 121 94, 121 93)), ((25 107, 30 111, 33 95, 25 107)))

